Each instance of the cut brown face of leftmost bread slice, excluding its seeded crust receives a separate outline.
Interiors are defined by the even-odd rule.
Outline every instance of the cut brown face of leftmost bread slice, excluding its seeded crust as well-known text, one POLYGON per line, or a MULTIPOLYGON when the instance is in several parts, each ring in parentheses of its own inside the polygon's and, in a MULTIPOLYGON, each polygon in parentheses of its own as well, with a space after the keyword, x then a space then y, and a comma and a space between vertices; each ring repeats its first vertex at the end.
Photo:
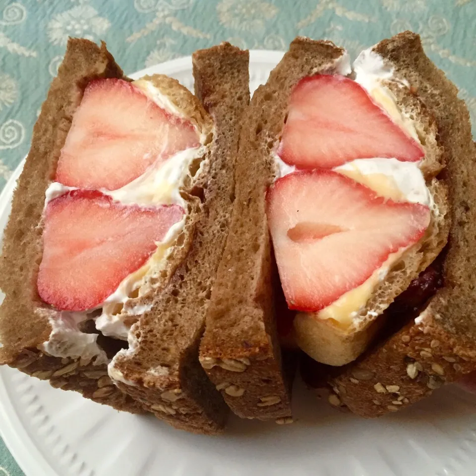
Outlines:
POLYGON ((6 297, 0 311, 0 363, 8 363, 23 348, 45 342, 48 321, 35 314, 42 305, 36 292, 41 261, 41 216, 45 190, 56 171, 60 149, 87 82, 97 77, 123 77, 106 45, 70 39, 58 76, 33 129, 23 172, 13 194, 10 220, 3 235, 0 288, 6 297), (25 283, 29 283, 26 285, 25 283))

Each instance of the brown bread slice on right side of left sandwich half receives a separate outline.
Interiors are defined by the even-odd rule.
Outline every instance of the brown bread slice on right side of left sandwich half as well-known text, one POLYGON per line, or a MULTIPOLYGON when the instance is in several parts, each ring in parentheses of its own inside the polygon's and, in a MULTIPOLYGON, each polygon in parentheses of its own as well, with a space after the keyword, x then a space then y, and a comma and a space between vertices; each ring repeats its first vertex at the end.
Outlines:
POLYGON ((203 180, 195 187, 200 219, 186 259, 132 326, 130 347, 113 360, 110 375, 173 426, 215 434, 223 430, 228 408, 198 361, 198 346, 235 199, 239 130, 249 102, 248 52, 223 43, 195 52, 192 60, 196 95, 215 124, 203 180))

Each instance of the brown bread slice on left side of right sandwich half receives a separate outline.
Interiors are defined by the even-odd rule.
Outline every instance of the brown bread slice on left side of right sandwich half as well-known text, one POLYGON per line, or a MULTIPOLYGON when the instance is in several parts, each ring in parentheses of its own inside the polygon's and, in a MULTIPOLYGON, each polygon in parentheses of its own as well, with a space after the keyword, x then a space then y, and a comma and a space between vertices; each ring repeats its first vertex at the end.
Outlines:
POLYGON ((232 410, 242 417, 291 415, 290 379, 276 334, 276 280, 265 213, 275 176, 271 150, 279 140, 293 86, 302 76, 332 69, 344 50, 297 38, 260 86, 240 136, 236 200, 227 246, 207 314, 200 360, 232 410))

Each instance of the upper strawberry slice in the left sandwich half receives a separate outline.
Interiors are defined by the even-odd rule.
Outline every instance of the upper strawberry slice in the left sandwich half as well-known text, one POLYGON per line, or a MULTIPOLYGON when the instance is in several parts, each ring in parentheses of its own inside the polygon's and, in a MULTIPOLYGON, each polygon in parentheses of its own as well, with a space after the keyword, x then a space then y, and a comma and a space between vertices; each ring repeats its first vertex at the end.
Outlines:
POLYGON ((122 79, 91 81, 61 149, 56 180, 116 190, 156 161, 199 145, 188 121, 170 115, 122 79))

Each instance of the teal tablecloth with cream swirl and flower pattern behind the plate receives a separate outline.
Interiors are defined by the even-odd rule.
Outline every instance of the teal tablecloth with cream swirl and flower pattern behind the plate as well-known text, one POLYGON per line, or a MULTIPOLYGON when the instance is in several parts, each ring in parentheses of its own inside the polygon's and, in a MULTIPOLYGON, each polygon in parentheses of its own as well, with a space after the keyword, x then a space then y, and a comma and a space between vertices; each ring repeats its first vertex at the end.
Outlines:
MULTIPOLYGON (((407 29, 458 85, 476 124, 476 0, 0 0, 0 190, 28 152, 68 36, 105 40, 131 73, 223 40, 286 50, 306 35, 355 57, 407 29)), ((17 475, 0 440, 0 476, 17 475)))

